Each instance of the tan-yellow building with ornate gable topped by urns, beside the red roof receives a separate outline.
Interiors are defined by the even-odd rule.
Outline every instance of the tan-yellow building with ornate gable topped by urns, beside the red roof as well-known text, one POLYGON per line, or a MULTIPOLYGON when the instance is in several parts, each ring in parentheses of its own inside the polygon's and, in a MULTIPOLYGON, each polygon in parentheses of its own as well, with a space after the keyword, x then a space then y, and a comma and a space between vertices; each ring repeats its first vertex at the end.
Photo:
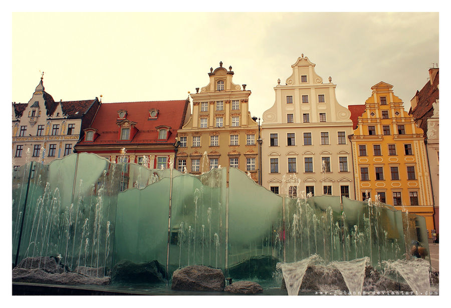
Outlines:
POLYGON ((250 90, 232 81, 234 72, 210 68, 210 82, 191 94, 192 115, 177 131, 176 167, 200 174, 211 168, 236 167, 258 181, 258 124, 248 108, 250 90))

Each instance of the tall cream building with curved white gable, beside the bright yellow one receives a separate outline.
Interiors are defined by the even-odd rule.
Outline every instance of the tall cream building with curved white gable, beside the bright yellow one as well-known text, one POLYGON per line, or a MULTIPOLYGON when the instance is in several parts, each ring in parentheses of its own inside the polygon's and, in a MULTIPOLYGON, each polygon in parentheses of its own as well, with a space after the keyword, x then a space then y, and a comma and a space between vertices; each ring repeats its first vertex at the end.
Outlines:
POLYGON ((351 112, 302 55, 286 84, 274 87, 276 101, 263 113, 263 186, 292 196, 345 195, 354 199, 351 112))

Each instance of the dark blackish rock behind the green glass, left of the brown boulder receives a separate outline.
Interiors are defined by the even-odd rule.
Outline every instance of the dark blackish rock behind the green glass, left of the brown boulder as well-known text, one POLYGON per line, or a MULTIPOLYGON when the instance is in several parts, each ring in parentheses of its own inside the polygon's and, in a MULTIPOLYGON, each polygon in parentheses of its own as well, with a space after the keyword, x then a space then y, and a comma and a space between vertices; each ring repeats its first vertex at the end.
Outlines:
POLYGON ((123 260, 114 265, 113 281, 133 283, 164 282, 166 270, 157 260, 133 263, 123 260))

